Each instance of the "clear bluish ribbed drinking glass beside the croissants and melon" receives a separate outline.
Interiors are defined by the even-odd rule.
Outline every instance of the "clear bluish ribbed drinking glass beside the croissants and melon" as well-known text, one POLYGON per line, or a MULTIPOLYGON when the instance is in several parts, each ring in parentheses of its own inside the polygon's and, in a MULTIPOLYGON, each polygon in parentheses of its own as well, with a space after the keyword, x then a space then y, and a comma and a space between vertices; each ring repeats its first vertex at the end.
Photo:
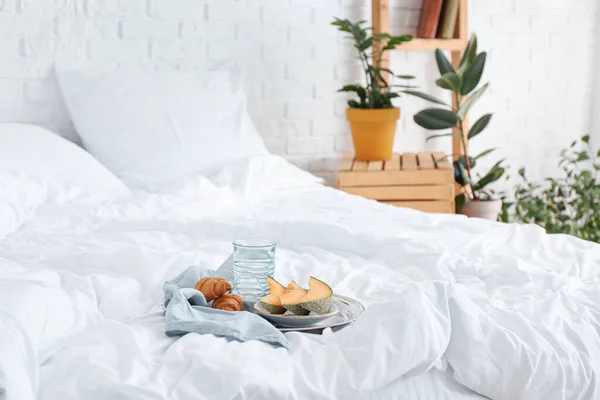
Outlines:
POLYGON ((233 242, 233 292, 246 301, 269 294, 267 277, 275 273, 275 242, 237 240, 233 242))

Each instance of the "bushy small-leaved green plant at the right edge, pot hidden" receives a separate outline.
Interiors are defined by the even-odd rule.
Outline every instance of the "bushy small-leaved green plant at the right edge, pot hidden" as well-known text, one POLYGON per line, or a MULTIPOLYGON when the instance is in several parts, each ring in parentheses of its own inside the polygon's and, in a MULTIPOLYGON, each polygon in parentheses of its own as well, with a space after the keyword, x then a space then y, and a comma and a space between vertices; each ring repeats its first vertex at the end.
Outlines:
POLYGON ((566 233, 600 243, 600 150, 594 154, 589 136, 574 141, 561 152, 562 176, 530 181, 525 169, 522 182, 505 202, 501 220, 534 223, 548 233, 566 233))

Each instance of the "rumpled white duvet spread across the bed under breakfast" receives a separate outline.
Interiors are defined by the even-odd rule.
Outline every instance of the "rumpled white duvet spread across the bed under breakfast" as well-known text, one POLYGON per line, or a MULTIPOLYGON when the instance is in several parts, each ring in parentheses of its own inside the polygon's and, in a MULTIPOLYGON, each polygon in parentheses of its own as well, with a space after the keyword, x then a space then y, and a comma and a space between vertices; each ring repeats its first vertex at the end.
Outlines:
POLYGON ((274 157, 119 200, 0 188, 7 399, 600 399, 598 245, 388 207, 274 157), (277 279, 318 276, 365 313, 289 350, 166 337, 163 282, 249 237, 278 241, 277 279))

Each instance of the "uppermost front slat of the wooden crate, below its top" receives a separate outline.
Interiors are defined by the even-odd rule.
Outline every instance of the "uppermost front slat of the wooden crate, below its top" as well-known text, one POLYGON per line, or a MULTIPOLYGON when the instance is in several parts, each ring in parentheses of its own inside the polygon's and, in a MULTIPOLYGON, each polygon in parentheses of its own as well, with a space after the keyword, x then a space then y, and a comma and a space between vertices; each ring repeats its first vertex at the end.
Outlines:
POLYGON ((340 172, 338 188, 352 186, 415 186, 451 185, 454 175, 450 169, 381 171, 381 172, 340 172))

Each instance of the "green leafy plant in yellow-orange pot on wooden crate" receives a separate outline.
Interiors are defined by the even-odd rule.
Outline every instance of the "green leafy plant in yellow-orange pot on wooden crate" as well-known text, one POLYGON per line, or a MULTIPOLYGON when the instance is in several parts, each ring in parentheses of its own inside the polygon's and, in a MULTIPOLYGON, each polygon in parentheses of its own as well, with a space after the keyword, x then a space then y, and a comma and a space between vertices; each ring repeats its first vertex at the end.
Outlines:
POLYGON ((355 93, 357 98, 348 101, 346 118, 352 131, 352 142, 357 160, 390 160, 394 145, 396 122, 400 109, 392 99, 399 97, 394 88, 411 89, 410 85, 395 85, 393 78, 414 79, 408 75, 394 75, 382 65, 385 52, 403 42, 412 40, 410 35, 393 36, 388 33, 372 34, 365 21, 352 23, 336 18, 331 24, 354 40, 358 58, 365 74, 365 83, 346 85, 340 92, 355 93), (389 79, 386 79, 389 78, 389 79))

